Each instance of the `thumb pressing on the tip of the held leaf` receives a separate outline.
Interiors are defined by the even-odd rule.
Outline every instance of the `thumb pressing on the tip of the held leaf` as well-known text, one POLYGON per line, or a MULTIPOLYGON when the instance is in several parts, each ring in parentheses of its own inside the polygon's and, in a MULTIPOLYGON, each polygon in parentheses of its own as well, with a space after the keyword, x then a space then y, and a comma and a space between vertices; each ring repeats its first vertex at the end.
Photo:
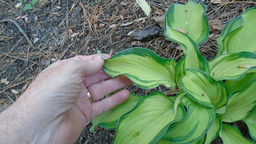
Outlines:
POLYGON ((104 60, 101 56, 97 55, 91 60, 70 60, 68 61, 68 67, 72 68, 73 74, 81 74, 82 77, 92 76, 93 74, 99 72, 103 67, 104 60))

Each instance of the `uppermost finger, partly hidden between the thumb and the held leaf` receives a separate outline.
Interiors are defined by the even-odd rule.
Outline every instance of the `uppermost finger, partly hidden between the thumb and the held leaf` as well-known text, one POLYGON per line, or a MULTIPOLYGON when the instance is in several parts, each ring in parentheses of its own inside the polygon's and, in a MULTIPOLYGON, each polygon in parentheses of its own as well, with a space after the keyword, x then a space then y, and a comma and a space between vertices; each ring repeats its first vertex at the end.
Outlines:
POLYGON ((102 80, 110 78, 102 69, 99 70, 96 74, 93 74, 93 76, 85 77, 83 79, 84 86, 88 87, 91 86, 94 83, 99 83, 102 80))

